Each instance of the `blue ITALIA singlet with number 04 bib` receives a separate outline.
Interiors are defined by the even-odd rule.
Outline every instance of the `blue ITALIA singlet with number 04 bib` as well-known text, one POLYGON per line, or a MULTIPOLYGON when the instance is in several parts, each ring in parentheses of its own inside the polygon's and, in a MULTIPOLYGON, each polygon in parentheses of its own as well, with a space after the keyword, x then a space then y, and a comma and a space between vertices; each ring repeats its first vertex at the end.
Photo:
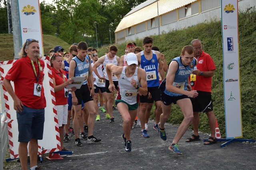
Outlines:
POLYGON ((144 51, 140 52, 140 65, 142 69, 146 70, 148 87, 155 87, 159 86, 158 61, 155 51, 151 51, 153 53, 151 60, 146 59, 144 51))

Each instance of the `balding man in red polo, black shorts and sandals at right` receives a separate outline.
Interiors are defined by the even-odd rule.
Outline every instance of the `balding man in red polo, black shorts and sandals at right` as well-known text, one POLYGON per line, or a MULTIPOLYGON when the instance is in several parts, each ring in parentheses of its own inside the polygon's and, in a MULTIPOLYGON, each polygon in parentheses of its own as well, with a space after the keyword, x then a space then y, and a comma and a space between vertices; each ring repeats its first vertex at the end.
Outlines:
POLYGON ((193 106, 193 127, 194 134, 187 139, 186 142, 198 141, 198 125, 199 125, 199 114, 198 112, 206 112, 209 120, 211 136, 204 143, 204 145, 212 145, 217 142, 215 138, 215 115, 213 112, 212 105, 212 76, 216 66, 212 57, 202 50, 202 43, 199 39, 191 41, 191 46, 195 50, 195 58, 198 60, 198 64, 195 66, 192 74, 190 75, 190 85, 193 90, 197 90, 198 96, 196 98, 190 98, 193 106))

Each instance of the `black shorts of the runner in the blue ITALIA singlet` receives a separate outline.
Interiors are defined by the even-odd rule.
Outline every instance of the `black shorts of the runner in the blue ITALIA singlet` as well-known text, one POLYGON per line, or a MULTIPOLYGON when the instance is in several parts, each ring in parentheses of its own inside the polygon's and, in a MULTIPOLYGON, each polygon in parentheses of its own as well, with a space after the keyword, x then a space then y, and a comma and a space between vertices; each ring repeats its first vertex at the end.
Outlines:
POLYGON ((148 92, 150 92, 152 98, 149 100, 148 99, 148 94, 147 96, 140 96, 140 103, 153 103, 154 101, 160 101, 161 100, 161 90, 156 87, 148 87, 148 92))

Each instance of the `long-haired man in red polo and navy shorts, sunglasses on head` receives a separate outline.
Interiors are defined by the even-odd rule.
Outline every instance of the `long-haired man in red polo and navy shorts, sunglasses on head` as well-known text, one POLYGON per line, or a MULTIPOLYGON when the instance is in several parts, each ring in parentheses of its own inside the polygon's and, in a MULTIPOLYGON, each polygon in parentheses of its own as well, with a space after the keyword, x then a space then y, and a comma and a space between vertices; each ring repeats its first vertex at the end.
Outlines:
POLYGON ((42 86, 44 61, 38 60, 39 54, 38 41, 27 39, 19 53, 20 59, 10 68, 3 82, 14 101, 17 114, 18 142, 20 142, 18 153, 22 170, 27 169, 28 142, 30 169, 38 169, 38 140, 43 139, 46 100, 42 86), (14 82, 14 90, 10 81, 14 82))

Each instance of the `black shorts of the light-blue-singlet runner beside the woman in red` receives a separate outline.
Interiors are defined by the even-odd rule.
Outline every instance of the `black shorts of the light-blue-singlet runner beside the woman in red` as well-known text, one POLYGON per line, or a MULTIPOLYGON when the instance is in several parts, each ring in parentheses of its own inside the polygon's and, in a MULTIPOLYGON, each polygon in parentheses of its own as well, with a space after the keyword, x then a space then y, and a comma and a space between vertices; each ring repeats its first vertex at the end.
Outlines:
POLYGON ((82 85, 80 89, 76 89, 75 94, 76 94, 76 98, 78 100, 77 105, 82 104, 82 100, 84 103, 87 103, 87 102, 93 100, 92 96, 90 96, 90 90, 89 90, 87 84, 82 85))

